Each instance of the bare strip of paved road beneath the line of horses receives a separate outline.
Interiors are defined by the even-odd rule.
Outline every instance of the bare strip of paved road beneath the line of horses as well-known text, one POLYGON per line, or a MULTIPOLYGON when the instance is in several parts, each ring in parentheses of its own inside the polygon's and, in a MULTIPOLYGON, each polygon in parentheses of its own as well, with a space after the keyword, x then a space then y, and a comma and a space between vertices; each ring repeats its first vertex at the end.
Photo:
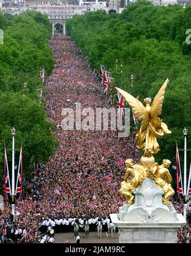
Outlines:
MULTIPOLYGON (((114 238, 107 237, 106 232, 102 233, 102 237, 97 237, 97 232, 90 232, 89 237, 83 236, 83 232, 79 232, 80 243, 118 243, 118 233, 115 233, 114 238)), ((76 243, 74 239, 74 233, 59 233, 55 234, 55 243, 76 243)))

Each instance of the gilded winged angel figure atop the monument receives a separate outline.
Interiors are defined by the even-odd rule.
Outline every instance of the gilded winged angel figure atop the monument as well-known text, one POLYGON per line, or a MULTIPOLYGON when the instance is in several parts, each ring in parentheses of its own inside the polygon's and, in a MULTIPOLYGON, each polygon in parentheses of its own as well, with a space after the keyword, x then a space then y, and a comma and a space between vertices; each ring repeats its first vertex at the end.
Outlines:
POLYGON ((157 138, 164 135, 164 133, 171 133, 167 125, 162 122, 159 115, 162 113, 162 104, 164 101, 164 93, 169 79, 166 79, 159 92, 155 96, 152 106, 150 98, 145 98, 145 106, 131 94, 116 87, 122 96, 124 96, 129 106, 132 108, 134 115, 141 122, 141 128, 136 134, 137 146, 143 149, 146 154, 157 154, 160 150, 157 138))

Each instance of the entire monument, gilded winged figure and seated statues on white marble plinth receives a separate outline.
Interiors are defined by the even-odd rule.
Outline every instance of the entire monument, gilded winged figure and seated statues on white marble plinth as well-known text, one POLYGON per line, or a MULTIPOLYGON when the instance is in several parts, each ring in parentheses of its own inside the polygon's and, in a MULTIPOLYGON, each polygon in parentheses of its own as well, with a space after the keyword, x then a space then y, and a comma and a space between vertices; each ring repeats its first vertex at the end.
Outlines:
POLYGON ((110 215, 119 229, 120 243, 176 243, 178 227, 186 223, 170 201, 174 195, 168 170, 171 161, 164 159, 159 165, 153 157, 160 150, 157 140, 171 133, 159 117, 168 83, 166 79, 153 103, 151 98, 145 98, 145 106, 138 98, 116 87, 141 121, 136 146, 144 151, 140 163, 134 164, 131 158, 125 160, 127 170, 119 191, 125 203, 118 214, 110 215))

